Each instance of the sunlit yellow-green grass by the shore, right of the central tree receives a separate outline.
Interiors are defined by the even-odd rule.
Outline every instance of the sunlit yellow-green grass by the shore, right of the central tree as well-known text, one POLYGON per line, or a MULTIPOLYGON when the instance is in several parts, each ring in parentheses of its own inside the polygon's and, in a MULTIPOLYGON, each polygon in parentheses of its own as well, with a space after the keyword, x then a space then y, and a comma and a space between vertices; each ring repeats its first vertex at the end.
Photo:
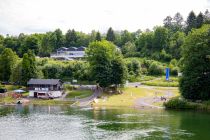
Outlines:
MULTIPOLYGON (((93 103, 93 106, 110 106, 110 107, 132 107, 135 104, 135 100, 142 97, 154 97, 155 92, 158 92, 158 96, 163 95, 168 90, 174 93, 174 96, 179 95, 178 88, 170 87, 129 87, 123 88, 123 94, 103 94, 97 103, 93 103)), ((160 104, 162 106, 162 104, 160 104)))

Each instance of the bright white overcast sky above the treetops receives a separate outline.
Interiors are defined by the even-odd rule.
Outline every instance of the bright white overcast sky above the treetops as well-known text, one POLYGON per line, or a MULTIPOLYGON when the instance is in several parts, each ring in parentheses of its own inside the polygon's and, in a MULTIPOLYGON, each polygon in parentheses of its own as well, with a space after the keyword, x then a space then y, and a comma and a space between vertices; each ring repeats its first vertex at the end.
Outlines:
POLYGON ((145 30, 176 12, 186 19, 190 11, 206 9, 210 0, 0 0, 0 34, 145 30))

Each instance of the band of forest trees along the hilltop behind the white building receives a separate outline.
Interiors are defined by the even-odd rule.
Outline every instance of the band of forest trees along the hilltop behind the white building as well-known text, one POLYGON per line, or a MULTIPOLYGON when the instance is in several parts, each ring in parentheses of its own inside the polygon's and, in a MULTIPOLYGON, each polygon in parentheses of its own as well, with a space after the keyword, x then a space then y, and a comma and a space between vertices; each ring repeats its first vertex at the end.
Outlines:
POLYGON ((163 27, 156 26, 153 30, 147 29, 144 32, 140 29, 135 32, 114 31, 110 27, 106 34, 95 30, 86 34, 74 29, 69 29, 63 34, 60 29, 56 29, 42 34, 25 35, 21 33, 19 36, 0 36, 0 52, 4 48, 11 48, 19 57, 23 57, 23 54, 27 53, 28 50, 33 50, 35 55, 49 57, 60 47, 87 47, 93 41, 106 39, 119 48, 125 48, 128 46, 128 42, 135 44, 135 49, 132 47, 131 52, 133 50, 136 52, 123 53, 126 57, 136 56, 170 61, 172 58, 180 58, 180 46, 184 42, 184 33, 188 34, 191 29, 200 28, 204 23, 209 24, 209 15, 208 10, 204 14, 200 12, 198 15, 191 11, 187 20, 184 21, 181 13, 177 12, 173 17, 167 16, 164 19, 163 27), (161 52, 162 56, 160 56, 161 52))

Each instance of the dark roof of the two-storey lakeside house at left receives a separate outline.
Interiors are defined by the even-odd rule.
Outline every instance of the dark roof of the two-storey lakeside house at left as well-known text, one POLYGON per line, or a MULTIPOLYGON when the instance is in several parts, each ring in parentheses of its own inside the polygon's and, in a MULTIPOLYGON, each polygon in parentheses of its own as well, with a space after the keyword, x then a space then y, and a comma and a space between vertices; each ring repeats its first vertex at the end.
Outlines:
POLYGON ((28 85, 57 85, 60 79, 30 79, 28 85))

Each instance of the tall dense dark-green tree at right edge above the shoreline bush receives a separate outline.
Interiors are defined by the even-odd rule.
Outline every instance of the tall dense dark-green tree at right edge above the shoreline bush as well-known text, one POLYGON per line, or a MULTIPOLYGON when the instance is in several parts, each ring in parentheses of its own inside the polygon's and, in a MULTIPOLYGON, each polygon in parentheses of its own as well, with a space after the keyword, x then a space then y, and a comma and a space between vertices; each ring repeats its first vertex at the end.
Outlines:
POLYGON ((193 30, 183 44, 180 91, 187 99, 210 99, 210 25, 193 30))

